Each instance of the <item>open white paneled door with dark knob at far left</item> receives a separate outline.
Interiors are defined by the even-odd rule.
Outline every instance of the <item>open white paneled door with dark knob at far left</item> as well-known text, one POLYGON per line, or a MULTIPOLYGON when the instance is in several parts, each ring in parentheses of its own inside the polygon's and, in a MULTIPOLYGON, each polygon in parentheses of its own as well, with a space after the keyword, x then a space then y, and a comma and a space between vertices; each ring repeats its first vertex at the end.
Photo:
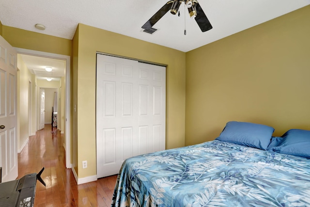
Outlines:
POLYGON ((16 179, 17 166, 17 53, 0 36, 0 167, 2 182, 16 179))

